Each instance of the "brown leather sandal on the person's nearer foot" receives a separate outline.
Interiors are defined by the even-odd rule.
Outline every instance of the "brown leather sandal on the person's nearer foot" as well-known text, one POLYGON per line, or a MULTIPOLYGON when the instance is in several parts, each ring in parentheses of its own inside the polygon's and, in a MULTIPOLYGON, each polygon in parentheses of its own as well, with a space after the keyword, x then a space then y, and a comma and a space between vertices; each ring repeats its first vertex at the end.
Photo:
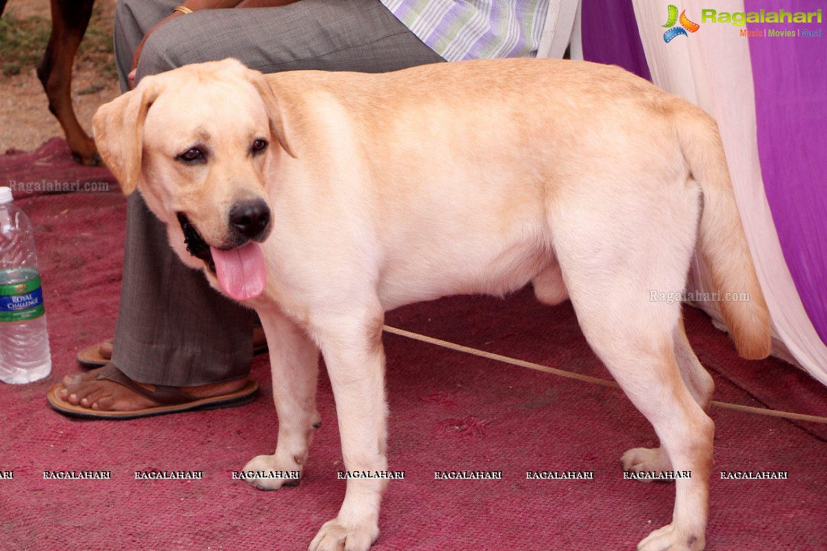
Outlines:
POLYGON ((154 389, 149 390, 137 384, 127 377, 120 369, 112 363, 102 368, 95 375, 96 380, 107 379, 112 382, 129 388, 132 392, 155 401, 157 406, 147 407, 134 411, 97 411, 88 407, 75 406, 60 397, 60 391, 65 387, 58 383, 49 389, 46 394, 50 406, 66 416, 81 417, 84 419, 137 419, 139 417, 160 416, 166 413, 179 413, 181 411, 214 410, 223 407, 236 407, 249 404, 256 399, 259 384, 253 378, 247 378, 246 384, 236 392, 227 392, 218 396, 207 398, 192 397, 176 387, 165 387, 153 385, 154 389))

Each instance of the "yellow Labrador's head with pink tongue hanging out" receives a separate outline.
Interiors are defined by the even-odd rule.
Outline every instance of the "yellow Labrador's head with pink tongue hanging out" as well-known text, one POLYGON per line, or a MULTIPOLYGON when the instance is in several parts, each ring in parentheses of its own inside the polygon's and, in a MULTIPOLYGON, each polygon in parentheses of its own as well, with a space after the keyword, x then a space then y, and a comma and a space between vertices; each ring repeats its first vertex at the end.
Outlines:
POLYGON ((295 155, 261 73, 225 59, 149 76, 100 107, 93 126, 123 191, 141 189, 185 263, 216 273, 238 300, 263 290, 265 174, 295 155))

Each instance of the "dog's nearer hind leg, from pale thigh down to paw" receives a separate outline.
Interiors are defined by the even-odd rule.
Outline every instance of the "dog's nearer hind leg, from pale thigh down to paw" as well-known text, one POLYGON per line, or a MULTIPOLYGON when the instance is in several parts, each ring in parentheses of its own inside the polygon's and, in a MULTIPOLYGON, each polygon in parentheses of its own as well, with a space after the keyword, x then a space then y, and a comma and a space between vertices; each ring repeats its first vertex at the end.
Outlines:
POLYGON ((656 187, 641 180, 604 188, 646 189, 646 195, 617 193, 595 202, 581 191, 588 185, 573 186, 578 194, 550 209, 562 277, 586 340, 653 425, 668 464, 679 473, 672 523, 638 549, 699 551, 705 546, 715 425, 698 402, 708 401, 711 387, 689 357, 681 302, 653 299, 653 291, 679 295, 686 284, 696 193, 682 183, 656 187))

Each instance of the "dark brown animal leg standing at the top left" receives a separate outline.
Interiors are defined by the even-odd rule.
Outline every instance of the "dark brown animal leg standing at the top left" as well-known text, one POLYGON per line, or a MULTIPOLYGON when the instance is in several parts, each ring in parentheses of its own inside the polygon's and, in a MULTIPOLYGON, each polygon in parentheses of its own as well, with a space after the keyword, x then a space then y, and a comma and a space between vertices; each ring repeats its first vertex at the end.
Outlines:
POLYGON ((49 45, 37 68, 49 97, 49 111, 57 117, 69 149, 79 163, 101 163, 95 142, 80 126, 72 107, 72 64, 80 41, 84 39, 94 0, 51 0, 52 29, 49 45))

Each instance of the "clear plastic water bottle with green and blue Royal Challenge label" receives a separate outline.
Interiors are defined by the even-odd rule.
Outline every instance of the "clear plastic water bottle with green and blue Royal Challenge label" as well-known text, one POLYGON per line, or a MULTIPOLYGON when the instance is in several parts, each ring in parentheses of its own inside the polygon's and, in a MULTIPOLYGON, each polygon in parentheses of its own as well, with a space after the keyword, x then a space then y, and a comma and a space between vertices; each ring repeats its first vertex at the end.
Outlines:
POLYGON ((22 383, 51 372, 49 334, 31 221, 0 188, 0 381, 22 383))

